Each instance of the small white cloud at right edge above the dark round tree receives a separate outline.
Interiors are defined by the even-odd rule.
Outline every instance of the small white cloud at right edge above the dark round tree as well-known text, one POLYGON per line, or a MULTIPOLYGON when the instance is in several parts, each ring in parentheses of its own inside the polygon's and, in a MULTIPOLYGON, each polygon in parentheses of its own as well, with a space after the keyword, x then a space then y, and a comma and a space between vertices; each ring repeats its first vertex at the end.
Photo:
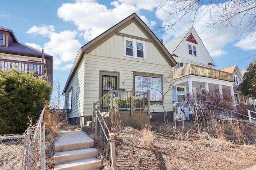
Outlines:
POLYGON ((243 39, 235 43, 234 46, 244 50, 256 50, 256 33, 244 33, 243 39))

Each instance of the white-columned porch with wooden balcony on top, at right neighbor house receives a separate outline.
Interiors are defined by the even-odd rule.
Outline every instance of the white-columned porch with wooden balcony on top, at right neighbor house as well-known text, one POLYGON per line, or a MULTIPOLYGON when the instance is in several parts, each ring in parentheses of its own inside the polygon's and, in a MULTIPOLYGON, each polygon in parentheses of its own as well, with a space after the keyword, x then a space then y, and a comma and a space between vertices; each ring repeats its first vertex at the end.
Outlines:
POLYGON ((173 101, 183 102, 188 95, 201 96, 207 93, 223 97, 223 93, 230 94, 235 101, 232 74, 208 67, 188 64, 172 70, 173 101))

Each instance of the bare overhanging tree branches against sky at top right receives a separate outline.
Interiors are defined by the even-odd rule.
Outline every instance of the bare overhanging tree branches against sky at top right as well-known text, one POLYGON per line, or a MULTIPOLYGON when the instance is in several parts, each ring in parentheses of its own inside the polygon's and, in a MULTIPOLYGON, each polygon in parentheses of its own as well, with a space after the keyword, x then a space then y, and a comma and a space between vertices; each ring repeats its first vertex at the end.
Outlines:
POLYGON ((174 29, 176 23, 182 18, 190 18, 192 22, 208 15, 206 26, 214 30, 223 30, 232 26, 236 31, 244 29, 246 24, 248 34, 256 26, 256 1, 255 0, 166 0, 159 4, 159 9, 166 12, 162 27, 174 29))

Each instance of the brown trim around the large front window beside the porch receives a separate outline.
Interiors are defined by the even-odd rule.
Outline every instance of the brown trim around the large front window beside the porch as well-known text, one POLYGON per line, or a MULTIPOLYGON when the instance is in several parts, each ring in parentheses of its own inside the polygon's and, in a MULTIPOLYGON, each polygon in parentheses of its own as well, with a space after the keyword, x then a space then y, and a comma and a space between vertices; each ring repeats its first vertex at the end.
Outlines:
MULTIPOLYGON (((162 74, 154 74, 154 73, 146 73, 146 72, 133 72, 133 89, 135 90, 135 76, 144 76, 144 77, 148 77, 148 78, 161 78, 161 82, 162 82, 162 97, 161 97, 161 101, 150 101, 150 103, 154 103, 154 104, 162 104, 163 103, 163 77, 164 75, 162 74)), ((150 90, 150 89, 149 89, 150 90)))

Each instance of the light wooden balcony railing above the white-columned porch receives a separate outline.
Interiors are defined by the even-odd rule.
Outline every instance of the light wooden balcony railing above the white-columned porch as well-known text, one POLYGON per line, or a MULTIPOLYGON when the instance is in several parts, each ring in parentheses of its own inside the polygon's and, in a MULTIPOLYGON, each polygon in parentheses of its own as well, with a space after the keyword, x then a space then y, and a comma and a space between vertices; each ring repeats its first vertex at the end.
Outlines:
POLYGON ((213 68, 198 66, 195 64, 188 64, 175 70, 172 70, 172 80, 182 78, 188 75, 216 78, 220 80, 233 82, 233 76, 229 72, 215 70, 213 68))

